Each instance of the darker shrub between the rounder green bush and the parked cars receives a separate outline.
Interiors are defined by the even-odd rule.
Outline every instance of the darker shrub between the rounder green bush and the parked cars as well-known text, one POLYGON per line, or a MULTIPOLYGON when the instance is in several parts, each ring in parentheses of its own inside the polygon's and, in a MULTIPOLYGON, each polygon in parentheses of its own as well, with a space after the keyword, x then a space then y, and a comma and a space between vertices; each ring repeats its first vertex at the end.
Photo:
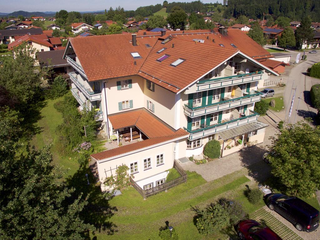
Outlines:
POLYGON ((241 203, 232 199, 225 198, 220 198, 219 203, 228 212, 229 222, 231 226, 235 226, 241 220, 247 218, 247 213, 244 211, 244 208, 241 203))

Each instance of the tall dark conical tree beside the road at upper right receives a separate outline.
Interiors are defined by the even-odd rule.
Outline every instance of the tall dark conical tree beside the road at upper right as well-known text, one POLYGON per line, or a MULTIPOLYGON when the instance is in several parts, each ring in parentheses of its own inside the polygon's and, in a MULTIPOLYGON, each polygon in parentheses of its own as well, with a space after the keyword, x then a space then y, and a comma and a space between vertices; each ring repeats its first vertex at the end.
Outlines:
POLYGON ((301 20, 300 26, 296 29, 296 46, 301 49, 302 44, 309 43, 314 37, 315 34, 311 28, 311 18, 306 16, 301 20))

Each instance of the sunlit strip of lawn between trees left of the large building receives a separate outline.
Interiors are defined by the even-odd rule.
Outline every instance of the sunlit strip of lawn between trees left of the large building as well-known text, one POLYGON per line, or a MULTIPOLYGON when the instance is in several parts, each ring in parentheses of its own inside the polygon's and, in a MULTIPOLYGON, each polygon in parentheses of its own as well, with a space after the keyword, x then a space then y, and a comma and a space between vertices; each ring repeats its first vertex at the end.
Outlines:
POLYGON ((54 108, 54 104, 61 99, 62 98, 46 100, 46 106, 41 110, 42 118, 37 123, 38 127, 40 127, 42 131, 39 134, 36 134, 31 144, 35 145, 38 149, 45 145, 52 144, 51 153, 53 157, 53 164, 62 165, 66 169, 70 168, 65 175, 68 176, 73 175, 79 169, 79 164, 74 159, 61 156, 54 144, 55 141, 57 141, 57 135, 55 132, 56 128, 62 123, 61 114, 54 108))

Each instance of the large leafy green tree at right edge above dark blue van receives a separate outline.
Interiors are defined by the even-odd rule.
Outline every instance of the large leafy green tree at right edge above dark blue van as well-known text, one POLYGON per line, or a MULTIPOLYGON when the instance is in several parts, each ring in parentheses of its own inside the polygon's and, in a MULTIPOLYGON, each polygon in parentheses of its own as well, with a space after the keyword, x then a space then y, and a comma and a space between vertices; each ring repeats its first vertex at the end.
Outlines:
POLYGON ((283 127, 271 137, 271 172, 290 194, 310 196, 320 189, 319 139, 319 126, 301 122, 283 127))

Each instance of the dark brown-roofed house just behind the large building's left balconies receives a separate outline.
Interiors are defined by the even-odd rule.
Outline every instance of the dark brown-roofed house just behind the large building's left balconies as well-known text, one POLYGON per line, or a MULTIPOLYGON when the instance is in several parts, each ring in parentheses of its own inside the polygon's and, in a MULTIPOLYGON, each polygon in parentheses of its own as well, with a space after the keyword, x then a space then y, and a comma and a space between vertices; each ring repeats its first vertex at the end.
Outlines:
MULTIPOLYGON (((74 72, 74 68, 70 66, 66 59, 63 59, 64 49, 38 52, 36 54, 39 64, 43 67, 50 67, 53 70, 52 79, 63 74, 70 81, 69 72, 74 72)), ((69 83, 71 86, 71 82, 69 83)))

